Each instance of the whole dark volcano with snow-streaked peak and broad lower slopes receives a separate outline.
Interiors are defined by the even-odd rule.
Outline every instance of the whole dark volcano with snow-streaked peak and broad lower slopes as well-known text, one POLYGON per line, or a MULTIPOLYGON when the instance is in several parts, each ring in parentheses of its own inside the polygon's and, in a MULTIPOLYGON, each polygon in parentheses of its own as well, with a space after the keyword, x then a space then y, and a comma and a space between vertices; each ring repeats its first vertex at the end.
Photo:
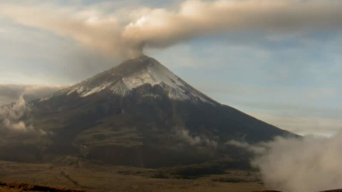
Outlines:
POLYGON ((253 144, 296 136, 212 100, 145 55, 26 102, 25 109, 15 119, 29 128, 25 133, 10 132, 2 119, 0 159, 81 156, 127 166, 174 166, 234 156, 226 145, 230 140, 253 144))

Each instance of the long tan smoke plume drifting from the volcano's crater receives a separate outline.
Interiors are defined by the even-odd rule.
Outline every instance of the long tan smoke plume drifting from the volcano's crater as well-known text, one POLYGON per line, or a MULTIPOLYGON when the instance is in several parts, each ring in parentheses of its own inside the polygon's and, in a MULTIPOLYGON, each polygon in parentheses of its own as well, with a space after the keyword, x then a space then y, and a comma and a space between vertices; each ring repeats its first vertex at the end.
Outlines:
MULTIPOLYGON (((37 1, 35 1, 37 2, 37 1)), ((100 6, 99 6, 100 7, 100 6)), ((120 58, 194 38, 237 31, 291 33, 342 27, 342 1, 188 0, 173 9, 120 9, 57 4, 0 4, 0 15, 24 26, 71 37, 120 58)))

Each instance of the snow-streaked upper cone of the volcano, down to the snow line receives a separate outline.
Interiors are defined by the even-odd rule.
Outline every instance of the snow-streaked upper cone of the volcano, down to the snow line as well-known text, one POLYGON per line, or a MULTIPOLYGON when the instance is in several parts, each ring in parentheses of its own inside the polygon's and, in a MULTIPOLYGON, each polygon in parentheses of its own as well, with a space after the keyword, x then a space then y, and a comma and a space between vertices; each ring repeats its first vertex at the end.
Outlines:
POLYGON ((106 90, 114 95, 125 97, 130 95, 132 90, 143 85, 150 85, 158 88, 159 91, 140 92, 142 97, 167 96, 172 100, 209 102, 213 105, 217 103, 187 84, 157 60, 146 55, 127 60, 118 67, 61 90, 57 95, 78 94, 80 97, 88 97, 106 90))

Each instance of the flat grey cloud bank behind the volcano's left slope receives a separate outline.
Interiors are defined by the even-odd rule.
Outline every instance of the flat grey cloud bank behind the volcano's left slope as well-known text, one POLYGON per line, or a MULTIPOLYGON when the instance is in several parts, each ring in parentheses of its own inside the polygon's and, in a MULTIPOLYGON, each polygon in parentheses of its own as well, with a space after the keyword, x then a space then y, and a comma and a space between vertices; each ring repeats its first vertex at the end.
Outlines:
POLYGON ((58 85, 0 84, 0 106, 17 102, 21 99, 26 101, 36 100, 51 95, 53 92, 61 90, 64 87, 58 85))

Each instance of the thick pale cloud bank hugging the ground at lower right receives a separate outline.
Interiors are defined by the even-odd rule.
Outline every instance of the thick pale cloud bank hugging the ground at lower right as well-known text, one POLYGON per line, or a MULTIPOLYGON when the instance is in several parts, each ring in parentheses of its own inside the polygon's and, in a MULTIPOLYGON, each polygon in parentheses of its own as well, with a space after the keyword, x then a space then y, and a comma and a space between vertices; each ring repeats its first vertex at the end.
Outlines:
POLYGON ((227 144, 252 151, 266 186, 279 191, 324 191, 342 188, 342 133, 331 138, 276 138, 255 146, 227 144))

